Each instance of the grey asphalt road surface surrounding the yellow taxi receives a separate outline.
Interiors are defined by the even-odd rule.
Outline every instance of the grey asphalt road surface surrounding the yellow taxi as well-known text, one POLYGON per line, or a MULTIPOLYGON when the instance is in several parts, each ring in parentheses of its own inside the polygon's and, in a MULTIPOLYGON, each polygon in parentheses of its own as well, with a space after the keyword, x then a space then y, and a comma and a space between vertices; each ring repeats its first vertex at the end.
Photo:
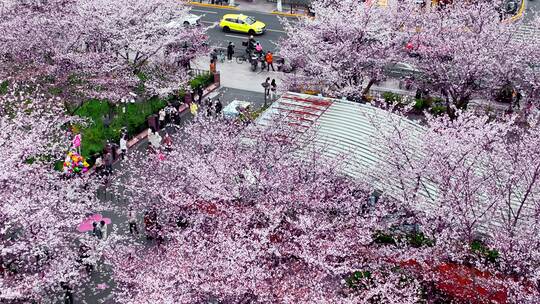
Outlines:
MULTIPOLYGON (((266 24, 266 33, 255 36, 255 39, 261 43, 263 50, 265 51, 269 50, 276 52, 276 44, 278 43, 279 38, 285 35, 285 31, 283 31, 283 26, 281 25, 278 16, 273 14, 212 7, 193 7, 191 9, 191 13, 195 15, 203 15, 201 18, 202 25, 210 26, 207 33, 211 45, 226 47, 229 41, 232 41, 236 46, 237 52, 243 49, 242 41, 247 41, 249 35, 236 32, 224 33, 219 27, 219 21, 225 14, 242 13, 244 15, 251 16, 258 21, 264 22, 266 24)), ((296 19, 296 17, 291 18, 296 19)))

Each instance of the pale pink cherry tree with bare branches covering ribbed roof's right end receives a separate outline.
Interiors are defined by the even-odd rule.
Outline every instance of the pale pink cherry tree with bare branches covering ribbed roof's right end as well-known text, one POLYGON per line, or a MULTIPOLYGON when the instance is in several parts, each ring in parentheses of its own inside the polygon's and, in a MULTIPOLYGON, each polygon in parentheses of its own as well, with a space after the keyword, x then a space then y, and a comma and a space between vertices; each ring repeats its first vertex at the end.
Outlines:
POLYGON ((435 240, 426 259, 474 265, 510 302, 538 302, 538 122, 458 114, 428 117, 423 131, 395 118, 381 125, 379 178, 435 240))

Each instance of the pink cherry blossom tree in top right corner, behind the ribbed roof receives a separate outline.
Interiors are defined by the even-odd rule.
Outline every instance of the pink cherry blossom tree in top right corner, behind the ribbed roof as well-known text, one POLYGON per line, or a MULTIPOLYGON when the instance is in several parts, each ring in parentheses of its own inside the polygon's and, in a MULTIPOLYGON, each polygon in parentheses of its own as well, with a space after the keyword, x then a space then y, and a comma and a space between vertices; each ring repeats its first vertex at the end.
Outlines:
POLYGON ((539 42, 517 39, 523 21, 501 22, 494 3, 460 1, 416 14, 404 11, 402 20, 403 61, 421 71, 414 79, 419 87, 442 94, 449 113, 450 105, 466 108, 472 98, 491 99, 503 86, 537 98, 538 84, 528 75, 535 74, 531 63, 539 56, 539 42))

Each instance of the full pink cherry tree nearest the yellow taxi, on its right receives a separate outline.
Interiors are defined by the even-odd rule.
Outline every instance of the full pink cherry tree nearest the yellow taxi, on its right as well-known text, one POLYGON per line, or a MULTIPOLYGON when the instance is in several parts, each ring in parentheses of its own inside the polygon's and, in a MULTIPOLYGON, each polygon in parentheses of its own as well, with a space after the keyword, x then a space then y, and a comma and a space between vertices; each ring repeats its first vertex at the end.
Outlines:
POLYGON ((316 1, 313 9, 314 19, 284 21, 279 53, 296 68, 289 86, 334 96, 365 94, 400 49, 397 7, 316 1))

